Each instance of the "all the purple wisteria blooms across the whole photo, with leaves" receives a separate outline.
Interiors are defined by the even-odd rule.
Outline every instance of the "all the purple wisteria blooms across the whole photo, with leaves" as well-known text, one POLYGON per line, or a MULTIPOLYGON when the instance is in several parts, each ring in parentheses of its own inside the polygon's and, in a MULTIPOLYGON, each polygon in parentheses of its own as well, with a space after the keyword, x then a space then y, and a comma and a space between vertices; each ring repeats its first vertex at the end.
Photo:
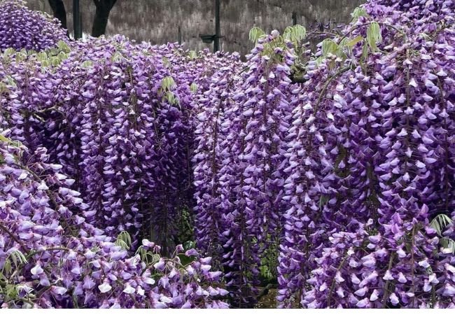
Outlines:
POLYGON ((246 62, 0 32, 2 306, 455 308, 454 12, 253 28, 246 62))

